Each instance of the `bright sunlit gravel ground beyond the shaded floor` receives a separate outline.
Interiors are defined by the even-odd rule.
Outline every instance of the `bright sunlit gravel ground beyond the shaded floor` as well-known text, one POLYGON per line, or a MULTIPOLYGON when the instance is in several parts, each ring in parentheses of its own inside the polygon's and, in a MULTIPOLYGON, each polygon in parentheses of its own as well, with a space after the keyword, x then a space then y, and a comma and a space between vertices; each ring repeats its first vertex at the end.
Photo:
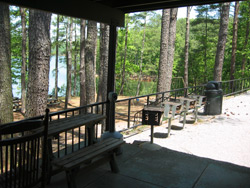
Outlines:
MULTIPOLYGON (((167 124, 155 127, 154 143, 172 150, 250 167, 250 92, 223 101, 223 113, 199 116, 198 123, 183 130, 171 130, 167 124)), ((127 143, 149 141, 150 132, 126 138, 127 143)))

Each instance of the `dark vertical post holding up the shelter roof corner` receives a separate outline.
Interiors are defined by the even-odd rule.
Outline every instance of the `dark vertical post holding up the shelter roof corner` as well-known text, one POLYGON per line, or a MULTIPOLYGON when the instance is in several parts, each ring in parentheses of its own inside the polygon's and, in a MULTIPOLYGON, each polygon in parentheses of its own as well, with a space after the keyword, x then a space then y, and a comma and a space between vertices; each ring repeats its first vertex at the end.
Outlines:
MULTIPOLYGON (((115 91, 115 59, 116 59, 116 40, 117 30, 114 24, 110 25, 109 33, 109 58, 108 58, 108 85, 107 85, 107 100, 108 94, 115 91)), ((106 108, 106 131, 115 131, 115 105, 110 105, 108 100, 106 108)))

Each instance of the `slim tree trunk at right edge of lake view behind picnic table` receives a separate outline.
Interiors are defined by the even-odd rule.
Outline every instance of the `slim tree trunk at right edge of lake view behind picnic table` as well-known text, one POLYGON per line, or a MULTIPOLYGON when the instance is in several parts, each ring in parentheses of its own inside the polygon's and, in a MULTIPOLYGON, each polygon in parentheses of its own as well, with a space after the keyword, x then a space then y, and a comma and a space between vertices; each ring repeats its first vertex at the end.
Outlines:
MULTIPOLYGON (((66 89, 66 99, 65 99, 65 109, 67 108, 68 102, 71 99, 71 76, 72 76, 72 35, 73 35, 73 18, 70 18, 69 22, 69 49, 68 52, 68 61, 67 61, 67 89, 66 89)), ((66 41, 67 42, 67 41, 66 41)))

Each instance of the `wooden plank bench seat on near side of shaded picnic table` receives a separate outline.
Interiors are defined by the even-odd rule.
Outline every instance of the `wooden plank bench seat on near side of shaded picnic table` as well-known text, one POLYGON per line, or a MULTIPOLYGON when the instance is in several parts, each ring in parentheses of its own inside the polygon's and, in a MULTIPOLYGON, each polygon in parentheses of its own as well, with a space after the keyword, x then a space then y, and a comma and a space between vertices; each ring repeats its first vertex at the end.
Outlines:
POLYGON ((124 141, 120 139, 107 138, 101 142, 66 155, 63 158, 58 158, 52 161, 52 165, 65 171, 68 187, 75 188, 75 176, 81 166, 82 168, 92 169, 104 162, 109 162, 111 171, 118 173, 119 168, 116 163, 115 151, 123 143, 124 141))

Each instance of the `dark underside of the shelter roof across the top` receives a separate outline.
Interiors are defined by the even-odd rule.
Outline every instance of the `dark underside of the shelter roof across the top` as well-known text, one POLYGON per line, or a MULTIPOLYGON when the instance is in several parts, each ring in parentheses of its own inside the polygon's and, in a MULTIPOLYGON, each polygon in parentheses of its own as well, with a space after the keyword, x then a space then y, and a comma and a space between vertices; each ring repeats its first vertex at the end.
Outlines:
POLYGON ((125 13, 221 3, 225 0, 0 0, 0 2, 123 26, 125 13))

